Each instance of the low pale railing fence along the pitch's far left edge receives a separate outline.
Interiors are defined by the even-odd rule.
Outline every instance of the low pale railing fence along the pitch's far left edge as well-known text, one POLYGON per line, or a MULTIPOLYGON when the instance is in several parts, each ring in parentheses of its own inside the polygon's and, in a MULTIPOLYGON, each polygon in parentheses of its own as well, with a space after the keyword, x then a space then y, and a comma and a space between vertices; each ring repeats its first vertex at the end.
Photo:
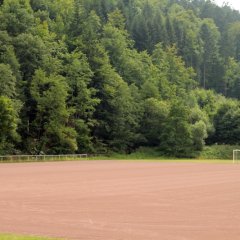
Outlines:
POLYGON ((79 160, 97 155, 89 154, 64 154, 64 155, 6 155, 0 156, 0 161, 61 161, 61 160, 79 160))

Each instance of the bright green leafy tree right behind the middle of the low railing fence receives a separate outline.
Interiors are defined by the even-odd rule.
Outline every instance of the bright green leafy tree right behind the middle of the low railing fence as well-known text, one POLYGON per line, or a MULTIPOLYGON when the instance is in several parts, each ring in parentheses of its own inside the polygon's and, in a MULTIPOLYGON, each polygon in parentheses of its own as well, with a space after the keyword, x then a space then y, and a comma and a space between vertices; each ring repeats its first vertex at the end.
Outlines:
POLYGON ((71 110, 66 107, 65 79, 59 75, 46 76, 44 71, 37 70, 30 90, 37 108, 31 132, 36 142, 34 150, 38 153, 75 151, 76 132, 70 126, 71 110))

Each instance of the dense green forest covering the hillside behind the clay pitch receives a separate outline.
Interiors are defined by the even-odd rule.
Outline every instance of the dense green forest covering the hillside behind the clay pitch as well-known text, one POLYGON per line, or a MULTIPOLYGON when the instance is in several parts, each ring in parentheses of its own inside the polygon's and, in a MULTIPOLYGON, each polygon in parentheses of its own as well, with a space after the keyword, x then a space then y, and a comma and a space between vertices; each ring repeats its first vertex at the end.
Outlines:
POLYGON ((210 0, 0 0, 0 154, 186 157, 240 144, 240 13, 210 0))

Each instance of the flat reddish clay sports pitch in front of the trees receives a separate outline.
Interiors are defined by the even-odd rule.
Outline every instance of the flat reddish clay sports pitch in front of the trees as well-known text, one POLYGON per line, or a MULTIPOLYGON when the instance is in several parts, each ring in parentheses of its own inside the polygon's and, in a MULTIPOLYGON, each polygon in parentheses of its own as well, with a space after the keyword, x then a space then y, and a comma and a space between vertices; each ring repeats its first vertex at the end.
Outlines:
POLYGON ((0 232, 81 240, 240 239, 240 165, 0 165, 0 232))

